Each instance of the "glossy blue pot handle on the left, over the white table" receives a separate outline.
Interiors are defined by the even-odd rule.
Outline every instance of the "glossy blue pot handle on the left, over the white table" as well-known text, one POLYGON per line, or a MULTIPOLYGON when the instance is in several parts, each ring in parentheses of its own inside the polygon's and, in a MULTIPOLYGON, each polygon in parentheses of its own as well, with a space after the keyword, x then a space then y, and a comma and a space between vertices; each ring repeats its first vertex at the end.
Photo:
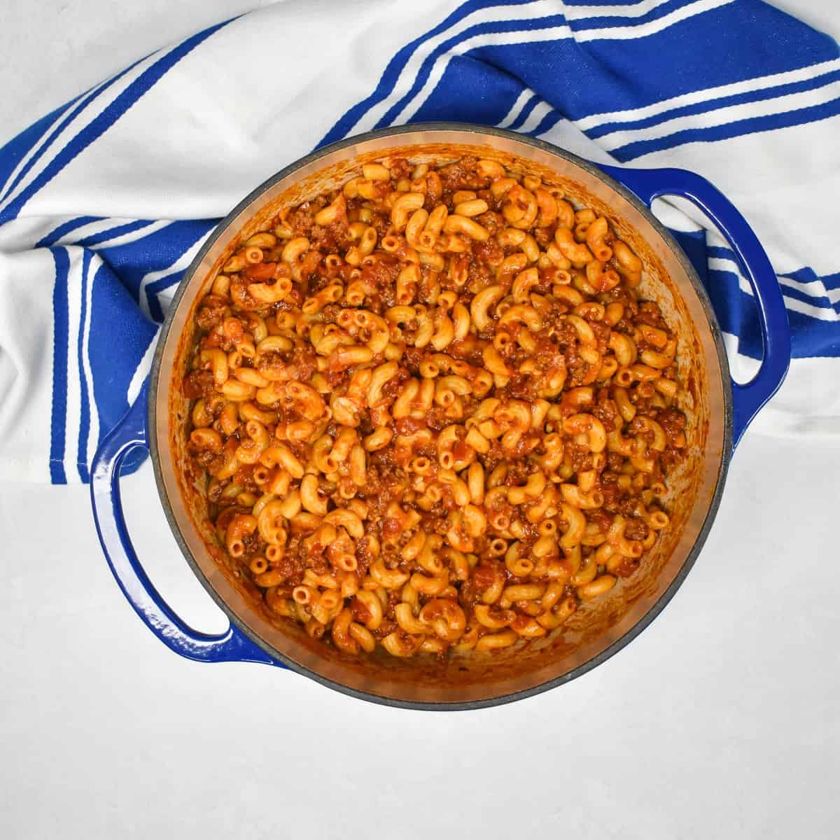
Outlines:
POLYGON ((99 444, 91 467, 93 518, 113 576, 146 627, 176 654, 199 662, 279 665, 233 624, 218 636, 197 633, 172 612, 140 565, 123 517, 119 469, 129 452, 149 449, 145 427, 148 402, 147 380, 129 412, 99 444))

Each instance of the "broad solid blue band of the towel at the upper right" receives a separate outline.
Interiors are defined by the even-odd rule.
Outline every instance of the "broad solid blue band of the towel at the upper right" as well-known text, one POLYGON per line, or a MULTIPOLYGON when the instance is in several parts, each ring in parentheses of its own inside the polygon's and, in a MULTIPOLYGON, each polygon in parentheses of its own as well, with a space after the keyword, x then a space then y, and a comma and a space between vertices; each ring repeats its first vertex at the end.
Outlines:
MULTIPOLYGON (((632 27, 628 34, 638 35, 632 27)), ((738 0, 643 37, 487 45, 467 55, 503 68, 579 120, 798 70, 835 60, 840 51, 827 35, 778 9, 738 0)))

